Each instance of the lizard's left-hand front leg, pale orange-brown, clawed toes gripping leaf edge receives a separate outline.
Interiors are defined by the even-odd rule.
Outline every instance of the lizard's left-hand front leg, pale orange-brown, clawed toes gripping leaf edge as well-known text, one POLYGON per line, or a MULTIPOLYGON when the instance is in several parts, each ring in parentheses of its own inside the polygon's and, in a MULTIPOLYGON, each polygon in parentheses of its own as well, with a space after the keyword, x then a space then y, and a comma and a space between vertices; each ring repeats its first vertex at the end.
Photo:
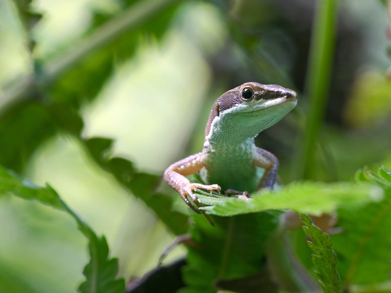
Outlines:
MULTIPOLYGON (((197 198, 193 194, 195 188, 205 189, 209 191, 217 190, 221 191, 221 187, 217 184, 212 185, 204 185, 200 183, 191 183, 185 176, 195 174, 202 167, 205 166, 203 162, 203 153, 198 153, 192 155, 190 157, 184 158, 176 163, 172 164, 167 170, 164 172, 164 180, 173 187, 177 192, 179 192, 181 198, 185 201, 185 203, 190 206, 196 213, 200 214, 200 210, 195 208, 195 206, 190 203, 188 196, 192 199, 192 201, 200 207, 201 204, 198 202, 197 198)), ((212 221, 209 217, 202 211, 202 213, 208 218, 209 222, 212 221)), ((213 225, 213 224, 212 224, 213 225)))

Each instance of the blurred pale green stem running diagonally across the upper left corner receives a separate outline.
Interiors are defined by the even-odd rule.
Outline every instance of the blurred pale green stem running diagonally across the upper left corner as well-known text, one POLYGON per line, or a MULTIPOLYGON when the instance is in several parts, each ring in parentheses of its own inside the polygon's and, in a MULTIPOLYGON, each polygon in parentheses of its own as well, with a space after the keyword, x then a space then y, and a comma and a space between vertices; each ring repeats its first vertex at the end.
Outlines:
POLYGON ((74 68, 92 52, 117 39, 125 32, 135 29, 141 23, 156 15, 162 9, 178 0, 140 0, 127 10, 102 24, 81 44, 58 58, 43 64, 43 77, 38 80, 32 73, 25 75, 0 95, 0 112, 22 100, 35 88, 48 87, 66 71, 74 68))

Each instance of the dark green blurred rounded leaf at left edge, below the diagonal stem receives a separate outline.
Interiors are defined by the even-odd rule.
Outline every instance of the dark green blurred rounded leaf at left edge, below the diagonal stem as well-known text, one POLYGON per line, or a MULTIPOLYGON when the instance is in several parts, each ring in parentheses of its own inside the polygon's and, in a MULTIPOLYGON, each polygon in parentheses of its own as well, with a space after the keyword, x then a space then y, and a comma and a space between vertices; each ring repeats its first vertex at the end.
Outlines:
POLYGON ((0 116, 0 164, 22 172, 30 156, 58 131, 79 135, 83 121, 67 104, 26 101, 0 116))

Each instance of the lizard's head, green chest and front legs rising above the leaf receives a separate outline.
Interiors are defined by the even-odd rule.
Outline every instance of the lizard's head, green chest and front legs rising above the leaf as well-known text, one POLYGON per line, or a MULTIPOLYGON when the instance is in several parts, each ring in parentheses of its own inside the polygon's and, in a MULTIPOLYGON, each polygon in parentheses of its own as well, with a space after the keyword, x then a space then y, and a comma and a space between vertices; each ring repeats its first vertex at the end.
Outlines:
MULTIPOLYGON (((195 188, 227 193, 252 193, 273 188, 278 159, 255 146, 254 138, 289 113, 297 103, 293 90, 278 85, 245 83, 223 93, 212 107, 202 152, 167 168, 164 179, 197 213, 195 188), (191 183, 185 176, 199 172, 210 185, 191 183)), ((204 213, 213 225, 209 217, 204 213)))

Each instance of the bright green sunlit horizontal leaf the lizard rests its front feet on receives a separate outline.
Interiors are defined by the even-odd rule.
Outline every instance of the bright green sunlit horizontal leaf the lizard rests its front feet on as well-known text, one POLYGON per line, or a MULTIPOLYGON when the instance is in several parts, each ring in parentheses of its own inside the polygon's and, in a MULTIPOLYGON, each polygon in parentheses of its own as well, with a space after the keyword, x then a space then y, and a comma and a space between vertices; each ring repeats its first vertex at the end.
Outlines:
POLYGON ((331 213, 340 206, 358 206, 379 200, 382 190, 373 184, 293 182, 278 191, 261 191, 250 199, 210 196, 197 192, 202 209, 219 216, 233 216, 270 209, 293 209, 311 215, 331 213))

